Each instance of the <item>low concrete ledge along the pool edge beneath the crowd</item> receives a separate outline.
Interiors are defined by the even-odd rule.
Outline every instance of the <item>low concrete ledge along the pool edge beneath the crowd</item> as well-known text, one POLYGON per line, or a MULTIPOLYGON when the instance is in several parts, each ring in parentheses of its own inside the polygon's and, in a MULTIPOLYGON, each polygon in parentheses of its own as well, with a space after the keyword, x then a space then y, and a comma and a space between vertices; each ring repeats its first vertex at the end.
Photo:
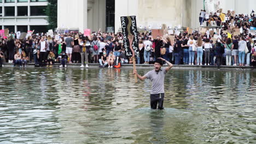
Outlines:
MULTIPOLYGON (((13 63, 4 63, 3 68, 14 68, 13 63)), ((55 63, 53 65, 53 68, 59 68, 60 63, 55 63)), ((80 63, 75 63, 75 64, 67 64, 67 68, 80 68, 80 63)), ((89 68, 99 68, 100 64, 98 63, 91 63, 88 64, 89 68)), ((152 68, 154 65, 153 64, 136 64, 137 69, 149 69, 152 68)), ((166 65, 163 65, 163 67, 166 67, 166 65)), ((19 68, 18 65, 16 65, 15 68, 19 68)), ((34 63, 28 63, 27 68, 35 68, 34 63)), ((46 68, 46 67, 41 67, 41 68, 46 68)), ((84 67, 85 68, 85 67, 84 67)), ((132 69, 133 65, 132 64, 123 64, 121 68, 127 68, 127 69, 132 69)), ((217 69, 216 65, 173 65, 173 69, 217 69)), ((256 68, 253 67, 247 67, 247 66, 226 66, 222 65, 220 66, 220 69, 222 70, 253 70, 256 71, 256 68)))

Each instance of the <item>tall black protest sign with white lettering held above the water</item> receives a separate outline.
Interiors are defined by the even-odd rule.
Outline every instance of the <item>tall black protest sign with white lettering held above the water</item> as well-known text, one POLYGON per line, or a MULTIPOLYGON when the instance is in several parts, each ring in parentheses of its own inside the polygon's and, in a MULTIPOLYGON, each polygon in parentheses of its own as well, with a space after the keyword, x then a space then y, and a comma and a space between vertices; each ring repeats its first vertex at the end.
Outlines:
POLYGON ((135 56, 139 57, 136 16, 121 16, 121 28, 123 31, 126 56, 132 56, 129 35, 133 35, 132 49, 135 52, 135 56))

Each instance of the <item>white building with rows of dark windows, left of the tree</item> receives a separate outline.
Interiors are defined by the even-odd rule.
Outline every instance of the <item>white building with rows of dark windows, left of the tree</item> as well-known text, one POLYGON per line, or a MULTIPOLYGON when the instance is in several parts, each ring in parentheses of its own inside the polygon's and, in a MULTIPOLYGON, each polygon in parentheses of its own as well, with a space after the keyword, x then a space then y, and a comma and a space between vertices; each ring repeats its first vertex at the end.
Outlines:
POLYGON ((9 28, 10 32, 45 32, 47 4, 47 0, 0 0, 0 28, 9 28))

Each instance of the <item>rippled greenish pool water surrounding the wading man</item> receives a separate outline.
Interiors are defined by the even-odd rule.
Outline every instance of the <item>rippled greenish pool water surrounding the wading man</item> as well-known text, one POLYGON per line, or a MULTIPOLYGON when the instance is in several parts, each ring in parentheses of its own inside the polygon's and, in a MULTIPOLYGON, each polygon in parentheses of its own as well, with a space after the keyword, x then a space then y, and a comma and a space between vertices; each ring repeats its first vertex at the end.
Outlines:
POLYGON ((3 68, 0 143, 256 143, 255 82, 249 70, 171 70, 160 111, 130 69, 3 68))

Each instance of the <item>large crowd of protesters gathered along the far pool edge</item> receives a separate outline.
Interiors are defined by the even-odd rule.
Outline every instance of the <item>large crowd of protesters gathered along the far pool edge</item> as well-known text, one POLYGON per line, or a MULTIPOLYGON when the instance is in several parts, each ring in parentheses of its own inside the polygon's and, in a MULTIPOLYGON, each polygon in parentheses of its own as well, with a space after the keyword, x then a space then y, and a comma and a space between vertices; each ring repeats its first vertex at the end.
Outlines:
MULTIPOLYGON (((171 40, 168 35, 153 39, 150 31, 139 33, 139 57, 137 64, 150 64, 162 57, 174 64, 188 65, 256 65, 256 38, 249 32, 256 27, 254 13, 248 15, 225 14, 226 20, 220 20, 218 12, 214 15, 205 11, 200 13, 200 23, 214 21, 221 27, 213 35, 193 31, 183 31, 171 40), (233 22, 233 23, 231 23, 233 22), (234 26, 243 28, 240 35, 228 38, 224 30, 234 26)), ((207 24, 208 25, 208 24, 207 24)), ((119 33, 92 32, 88 36, 82 33, 58 34, 51 37, 46 34, 32 34, 27 39, 17 39, 10 33, 7 39, 0 38, 0 65, 3 62, 14 63, 26 67, 34 62, 36 67, 67 67, 67 63, 79 63, 80 67, 89 67, 89 63, 99 63, 100 67, 112 68, 115 58, 119 57, 122 64, 132 63, 132 58, 125 55, 123 35, 119 33)))

